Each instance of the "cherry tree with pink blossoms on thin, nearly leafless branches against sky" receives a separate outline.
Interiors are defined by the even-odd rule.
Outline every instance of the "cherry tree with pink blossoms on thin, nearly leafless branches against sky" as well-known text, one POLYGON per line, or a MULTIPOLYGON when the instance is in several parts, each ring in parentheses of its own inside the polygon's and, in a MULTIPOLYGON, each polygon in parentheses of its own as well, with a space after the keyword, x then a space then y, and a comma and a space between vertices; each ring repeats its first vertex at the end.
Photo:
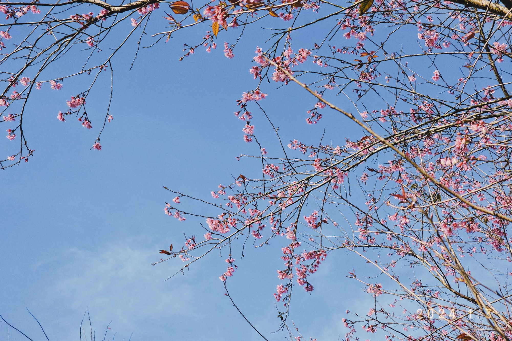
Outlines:
MULTIPOLYGON (((272 29, 257 37, 261 44, 258 40, 253 56, 237 56, 252 61, 247 77, 254 78, 254 87, 241 89, 235 115, 242 121, 240 138, 260 151, 240 158, 258 159, 261 170, 248 169, 232 183, 212 188, 210 199, 164 187, 173 192, 165 212, 187 225, 188 237, 180 247, 161 250, 168 257, 157 263, 180 259, 180 273, 221 250, 227 266, 219 278, 226 285, 237 274, 236 254, 243 254, 246 244, 278 247, 283 265, 275 269, 273 295, 281 328, 300 341, 300 328, 288 319, 292 288, 313 291, 314 273, 328 255, 348 252, 366 262, 345 271, 374 304, 364 314, 347 307, 346 340, 361 333, 388 341, 508 340, 511 5, 508 0, 2 3, 0 108, 6 145, 19 144, 12 155, 0 157, 0 165, 19 164, 34 153, 23 131, 32 91, 66 91, 65 80, 88 77, 90 86, 69 94, 55 116, 61 121, 75 116, 87 129, 98 122, 102 128, 92 148, 101 150, 103 127, 113 118, 110 104, 101 117, 89 115, 86 104, 94 100, 89 93, 99 79, 112 79, 113 56, 125 45, 185 39, 179 33, 197 26, 202 33, 186 37, 191 41, 183 58, 203 49, 213 53, 218 44, 233 58, 237 42, 248 38, 245 28, 260 23, 272 29), (155 14, 158 25, 150 22, 155 14), (239 38, 224 41, 231 30, 239 38), (76 69, 54 74, 59 60, 76 69), (321 136, 307 141, 281 136, 272 124, 272 108, 265 107, 267 96, 279 96, 276 86, 310 96, 304 124, 323 124, 324 115, 336 115, 363 133, 355 139, 336 135, 340 140, 332 143, 321 136), (273 147, 258 139, 260 126, 251 123, 256 115, 275 131, 273 147), (192 202, 205 210, 187 209, 192 202)), ((116 96, 112 89, 110 99, 116 96)))

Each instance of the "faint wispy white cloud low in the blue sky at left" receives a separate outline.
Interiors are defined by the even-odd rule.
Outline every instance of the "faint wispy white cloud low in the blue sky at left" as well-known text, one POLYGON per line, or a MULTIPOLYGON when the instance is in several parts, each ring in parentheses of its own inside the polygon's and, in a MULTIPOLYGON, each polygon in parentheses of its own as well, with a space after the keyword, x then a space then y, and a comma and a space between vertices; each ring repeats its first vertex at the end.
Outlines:
MULTIPOLYGON (((154 247, 130 243, 106 244, 101 251, 71 249, 68 264, 59 270, 48 294, 71 310, 83 312, 89 307, 98 329, 113 321, 113 330, 123 336, 137 332, 137 339, 158 325, 165 324, 163 329, 171 331, 176 327, 173 317, 192 304, 194 297, 186 281, 161 281, 169 267, 151 266, 158 259, 155 254, 154 247)), ((77 331, 59 336, 76 338, 77 331)))

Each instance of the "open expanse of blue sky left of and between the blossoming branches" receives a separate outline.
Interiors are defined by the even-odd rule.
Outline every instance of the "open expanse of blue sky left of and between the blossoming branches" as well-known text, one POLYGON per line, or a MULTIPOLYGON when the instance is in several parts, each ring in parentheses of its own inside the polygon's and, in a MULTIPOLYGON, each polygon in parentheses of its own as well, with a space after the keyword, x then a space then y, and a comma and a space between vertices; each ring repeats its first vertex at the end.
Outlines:
MULTIPOLYGON (((29 309, 52 341, 77 340, 89 307, 96 334, 111 323, 108 335, 117 333, 115 339, 127 340, 132 333, 132 340, 259 339, 223 295, 218 276, 225 271, 224 258, 211 254, 184 276, 165 282, 181 262, 151 266, 160 258, 159 249, 181 245, 182 232, 197 227, 164 214, 164 202, 173 196, 162 186, 208 198, 210 190, 232 182, 232 176, 261 173, 249 161, 236 160, 257 151, 257 145, 243 141, 243 124, 233 112, 242 92, 255 86, 248 73, 250 60, 265 37, 253 34, 242 40, 236 57, 228 60, 221 46, 236 34, 220 37, 217 51, 207 55, 199 48, 181 62, 184 37, 178 36, 143 49, 128 71, 134 40, 114 63, 114 120, 102 135, 99 152, 89 148, 104 115, 106 78, 88 101, 91 131, 72 116, 66 122, 56 118, 66 108, 65 100, 83 90, 80 80, 64 81, 58 92, 34 92, 24 124, 35 156, 2 172, 0 182, 0 314, 9 323, 34 340, 43 339, 29 309)), ((59 63, 67 68, 70 61, 59 63)), ((325 126, 335 127, 332 136, 348 134, 339 118, 307 125, 305 112, 315 101, 294 84, 279 92, 272 90, 275 84, 265 87, 270 96, 262 104, 284 141, 317 143, 325 126)), ((261 123, 256 134, 272 151, 277 147, 272 132, 264 132, 261 118, 255 120, 261 123)), ((280 283, 277 252, 248 251, 228 281, 233 299, 269 339, 284 336, 268 334, 279 326, 272 296, 280 283)), ((343 337, 343 312, 371 299, 357 295, 356 301, 353 293, 362 289, 347 282, 347 273, 336 265, 346 262, 345 257, 329 256, 314 275, 311 294, 295 289, 291 318, 304 336, 343 337)), ((0 340, 7 339, 8 329, 11 340, 22 339, 5 324, 0 327, 0 340)))

